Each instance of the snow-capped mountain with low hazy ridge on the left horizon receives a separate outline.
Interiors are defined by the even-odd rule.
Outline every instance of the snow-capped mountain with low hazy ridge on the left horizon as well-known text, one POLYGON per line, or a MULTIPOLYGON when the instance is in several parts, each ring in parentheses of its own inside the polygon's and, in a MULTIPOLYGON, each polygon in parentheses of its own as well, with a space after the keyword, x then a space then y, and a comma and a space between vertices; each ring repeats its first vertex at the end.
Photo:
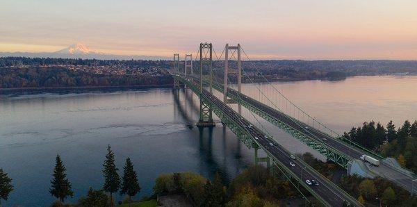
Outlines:
POLYGON ((101 53, 88 48, 85 44, 71 44, 70 47, 52 53, 28 53, 28 52, 0 52, 0 57, 23 56, 28 58, 82 58, 99 60, 168 60, 170 58, 162 56, 120 56, 101 53))

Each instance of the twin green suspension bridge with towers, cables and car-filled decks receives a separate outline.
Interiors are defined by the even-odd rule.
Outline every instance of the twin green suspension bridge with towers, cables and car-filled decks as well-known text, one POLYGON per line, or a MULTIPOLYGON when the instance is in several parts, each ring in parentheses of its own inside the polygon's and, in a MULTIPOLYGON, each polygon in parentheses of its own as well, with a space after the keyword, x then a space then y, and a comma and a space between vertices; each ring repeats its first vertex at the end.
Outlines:
MULTIPOLYGON (((411 193, 416 191, 412 185, 415 180, 414 174, 402 169, 393 160, 385 159, 351 140, 342 140, 341 135, 318 122, 314 117, 311 117, 287 99, 274 85, 269 83, 268 79, 256 67, 252 68, 256 69, 257 74, 264 78, 265 83, 271 85, 274 93, 272 95, 265 94, 256 85, 259 92, 258 99, 245 94, 242 89, 242 77, 244 76, 245 80, 250 83, 254 83, 254 80, 250 74, 242 69, 242 52, 247 60, 250 60, 240 44, 236 46, 226 44, 220 57, 218 57, 213 49, 213 44, 201 43, 194 60, 196 61, 199 58, 199 67, 197 68, 193 67, 192 54, 186 54, 183 60, 183 68, 180 66, 179 54, 174 54, 173 67, 170 70, 174 78, 174 87, 179 88, 182 83, 199 97, 199 121, 197 126, 215 126, 213 122, 213 113, 215 113, 224 126, 231 129, 241 142, 250 149, 254 149, 256 164, 265 162, 268 166, 270 164, 275 165, 288 180, 296 181, 296 183, 293 183, 295 188, 299 189, 299 186, 302 185, 325 206, 343 206, 343 204, 361 206, 361 204, 332 181, 304 163, 302 159, 293 156, 291 152, 281 147, 268 133, 268 130, 263 127, 263 124, 259 122, 259 118, 265 119, 270 124, 286 131, 293 138, 304 142, 328 160, 344 167, 347 174, 359 174, 367 177, 382 176, 398 183, 411 193), (213 53, 217 60, 213 58, 213 53), (213 61, 219 63, 223 54, 224 69, 214 68, 213 61), (236 69, 229 68, 231 66, 236 67, 236 69), (217 76, 213 74, 214 71, 224 73, 222 82, 217 80, 217 76), (230 73, 234 73, 237 77, 237 89, 229 86, 231 82, 230 73), (215 96, 213 90, 220 92, 222 99, 215 96), (279 97, 279 100, 274 100, 274 96, 279 97), (280 105, 280 103, 285 103, 286 110, 284 110, 284 104, 280 105), (237 111, 229 106, 231 104, 238 105, 237 111), (291 107, 290 110, 288 110, 288 105, 291 107), (256 123, 251 123, 242 115, 242 106, 249 110, 256 123), (265 152, 266 157, 258 157, 259 149, 265 152), (378 167, 366 165, 362 160, 359 160, 360 156, 364 154, 377 158, 381 161, 381 165, 378 167), (289 163, 294 165, 289 165, 289 163), (309 185, 305 181, 307 179, 318 181, 319 185, 309 185)), ((301 192, 300 189, 299 191, 301 192)), ((307 201, 304 194, 303 197, 307 201)))

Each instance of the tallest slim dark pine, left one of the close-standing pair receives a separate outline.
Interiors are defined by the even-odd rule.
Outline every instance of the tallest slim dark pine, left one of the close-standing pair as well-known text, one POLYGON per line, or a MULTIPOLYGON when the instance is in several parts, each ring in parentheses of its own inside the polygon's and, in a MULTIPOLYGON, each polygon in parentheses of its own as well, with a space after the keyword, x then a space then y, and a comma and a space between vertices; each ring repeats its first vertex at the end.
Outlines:
POLYGON ((115 154, 111 151, 110 144, 107 147, 106 160, 103 164, 103 174, 104 174, 104 185, 103 189, 106 192, 110 192, 110 201, 113 206, 113 192, 117 192, 120 187, 120 177, 117 174, 117 167, 115 165, 115 154))

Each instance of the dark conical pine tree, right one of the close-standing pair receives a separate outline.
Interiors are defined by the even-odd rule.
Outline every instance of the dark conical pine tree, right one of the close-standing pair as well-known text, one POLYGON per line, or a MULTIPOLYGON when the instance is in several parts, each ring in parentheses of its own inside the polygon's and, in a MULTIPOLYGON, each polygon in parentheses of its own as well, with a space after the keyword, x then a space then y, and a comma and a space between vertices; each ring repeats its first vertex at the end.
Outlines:
POLYGON ((138 176, 133 169, 133 164, 130 158, 126 158, 126 164, 123 167, 123 176, 122 176, 122 189, 120 194, 129 195, 129 201, 131 197, 140 192, 140 186, 138 183, 138 176))

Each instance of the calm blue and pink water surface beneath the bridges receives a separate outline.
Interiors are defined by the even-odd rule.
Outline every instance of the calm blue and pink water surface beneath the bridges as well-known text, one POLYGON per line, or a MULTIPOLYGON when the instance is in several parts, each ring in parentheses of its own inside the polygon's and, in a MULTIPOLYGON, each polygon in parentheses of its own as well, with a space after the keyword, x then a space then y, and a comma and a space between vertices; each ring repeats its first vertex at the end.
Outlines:
MULTIPOLYGON (((417 118, 417 76, 274 85, 338 132, 371 119, 384 125, 392 119, 399 125, 417 118)), ((243 91, 256 97, 257 87, 276 97, 275 90, 265 84, 247 84, 243 91)), ((285 110, 279 98, 272 101, 285 110)), ((189 90, 170 89, 0 96, 0 167, 15 185, 2 204, 49 206, 54 201, 48 189, 56 154, 63 158, 72 182, 70 201, 85 195, 90 186, 101 188, 108 144, 120 169, 128 156, 133 160, 142 187, 136 199, 152 194, 154 179, 164 172, 193 171, 207 177, 220 172, 224 182, 230 181, 252 163, 253 151, 220 123, 212 130, 193 126, 198 119, 197 103, 189 90)), ((310 151, 247 110, 243 115, 289 150, 310 151)))

